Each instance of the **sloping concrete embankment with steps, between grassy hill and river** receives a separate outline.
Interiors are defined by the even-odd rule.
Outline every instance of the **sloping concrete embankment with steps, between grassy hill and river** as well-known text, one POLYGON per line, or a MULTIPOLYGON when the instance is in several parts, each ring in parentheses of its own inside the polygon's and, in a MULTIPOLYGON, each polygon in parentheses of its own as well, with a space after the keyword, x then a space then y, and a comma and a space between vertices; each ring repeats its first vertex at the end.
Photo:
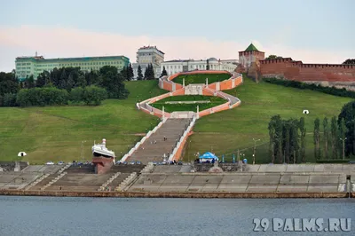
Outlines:
MULTIPOLYGON (((232 164, 231 164, 232 165, 232 164)), ((355 165, 248 165, 198 171, 193 165, 28 166, 0 172, 0 194, 95 197, 341 198, 355 197, 355 165)), ((213 167, 210 167, 213 168, 213 167)))

